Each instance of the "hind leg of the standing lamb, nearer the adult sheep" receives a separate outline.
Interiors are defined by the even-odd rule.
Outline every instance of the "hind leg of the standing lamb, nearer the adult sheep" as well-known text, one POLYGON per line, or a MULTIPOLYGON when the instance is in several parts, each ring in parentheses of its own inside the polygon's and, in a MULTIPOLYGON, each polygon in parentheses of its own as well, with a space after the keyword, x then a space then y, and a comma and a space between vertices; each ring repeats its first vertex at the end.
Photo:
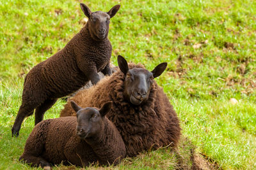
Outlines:
POLYGON ((35 125, 41 122, 44 119, 45 111, 49 110, 57 99, 46 99, 44 103, 36 107, 35 111, 35 125))

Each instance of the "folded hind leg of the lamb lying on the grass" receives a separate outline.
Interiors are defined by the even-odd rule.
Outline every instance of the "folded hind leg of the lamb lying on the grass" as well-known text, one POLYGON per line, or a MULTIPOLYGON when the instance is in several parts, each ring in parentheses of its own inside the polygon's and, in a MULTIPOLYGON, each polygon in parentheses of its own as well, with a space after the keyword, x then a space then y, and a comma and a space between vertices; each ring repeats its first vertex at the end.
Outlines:
POLYGON ((27 164, 31 164, 31 166, 40 166, 42 168, 51 167, 51 164, 49 162, 47 162, 47 160, 45 160, 44 158, 35 157, 35 156, 29 155, 29 154, 21 155, 19 160, 23 160, 27 164))

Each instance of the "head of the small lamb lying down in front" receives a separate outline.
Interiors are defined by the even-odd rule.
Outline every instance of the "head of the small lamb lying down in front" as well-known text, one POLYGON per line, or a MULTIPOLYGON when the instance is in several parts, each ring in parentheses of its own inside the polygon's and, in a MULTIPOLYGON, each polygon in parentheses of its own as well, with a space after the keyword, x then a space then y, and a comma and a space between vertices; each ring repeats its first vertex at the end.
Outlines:
POLYGON ((70 101, 77 116, 77 135, 81 139, 99 136, 104 131, 104 118, 112 106, 112 102, 104 103, 102 108, 81 108, 74 101, 70 101))

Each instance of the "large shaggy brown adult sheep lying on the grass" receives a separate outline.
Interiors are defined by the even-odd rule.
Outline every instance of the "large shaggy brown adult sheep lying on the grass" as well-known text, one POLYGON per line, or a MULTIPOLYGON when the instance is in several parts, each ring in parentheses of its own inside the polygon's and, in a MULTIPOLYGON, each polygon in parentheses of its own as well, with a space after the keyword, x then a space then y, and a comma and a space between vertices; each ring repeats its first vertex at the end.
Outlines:
MULTIPOLYGON (((167 63, 159 64, 150 72, 141 64, 128 65, 119 55, 118 66, 120 70, 112 76, 71 99, 83 107, 97 107, 112 101, 107 117, 120 132, 129 157, 161 146, 177 146, 181 131, 179 119, 154 80, 163 73, 167 63)), ((74 116, 69 101, 60 116, 74 116)))

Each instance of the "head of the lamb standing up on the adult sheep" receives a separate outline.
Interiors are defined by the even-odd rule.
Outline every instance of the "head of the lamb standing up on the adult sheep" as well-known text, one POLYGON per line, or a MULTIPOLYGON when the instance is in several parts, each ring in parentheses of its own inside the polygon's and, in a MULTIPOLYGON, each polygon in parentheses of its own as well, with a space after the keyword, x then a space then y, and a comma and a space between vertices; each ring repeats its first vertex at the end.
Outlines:
POLYGON ((117 4, 111 10, 108 12, 102 12, 102 11, 95 11, 92 12, 88 6, 81 3, 80 4, 81 9, 84 12, 84 15, 88 17, 88 28, 90 31, 90 34, 93 39, 96 41, 101 41, 108 37, 108 31, 109 31, 109 21, 110 18, 114 17, 116 12, 120 8, 120 4, 117 4))

